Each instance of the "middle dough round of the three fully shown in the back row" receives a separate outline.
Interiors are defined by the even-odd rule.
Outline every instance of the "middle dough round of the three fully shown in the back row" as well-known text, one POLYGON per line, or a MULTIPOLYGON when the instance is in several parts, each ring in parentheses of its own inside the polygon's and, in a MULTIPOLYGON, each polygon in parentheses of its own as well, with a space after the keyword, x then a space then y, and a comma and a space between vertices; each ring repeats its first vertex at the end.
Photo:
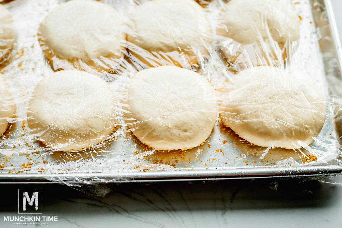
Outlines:
POLYGON ((153 0, 130 16, 130 52, 149 65, 194 65, 207 54, 212 31, 206 12, 193 0, 153 0))

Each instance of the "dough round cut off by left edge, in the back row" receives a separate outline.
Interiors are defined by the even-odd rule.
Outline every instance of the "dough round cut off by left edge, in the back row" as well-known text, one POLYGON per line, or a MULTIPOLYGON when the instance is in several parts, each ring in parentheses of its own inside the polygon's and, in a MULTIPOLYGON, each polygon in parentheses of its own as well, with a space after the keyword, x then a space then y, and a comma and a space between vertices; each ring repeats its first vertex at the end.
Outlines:
POLYGON ((10 11, 0 4, 0 61, 9 53, 15 40, 13 18, 10 11))

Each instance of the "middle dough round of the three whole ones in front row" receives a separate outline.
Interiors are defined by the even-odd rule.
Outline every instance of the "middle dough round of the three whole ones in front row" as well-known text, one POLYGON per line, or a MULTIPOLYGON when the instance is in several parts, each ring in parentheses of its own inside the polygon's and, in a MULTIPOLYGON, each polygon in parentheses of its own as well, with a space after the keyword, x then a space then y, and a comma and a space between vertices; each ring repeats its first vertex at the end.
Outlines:
POLYGON ((198 73, 175 66, 136 73, 128 85, 134 135, 157 149, 187 149, 200 145, 216 121, 210 83, 198 73), (140 122, 142 121, 142 122, 140 122))

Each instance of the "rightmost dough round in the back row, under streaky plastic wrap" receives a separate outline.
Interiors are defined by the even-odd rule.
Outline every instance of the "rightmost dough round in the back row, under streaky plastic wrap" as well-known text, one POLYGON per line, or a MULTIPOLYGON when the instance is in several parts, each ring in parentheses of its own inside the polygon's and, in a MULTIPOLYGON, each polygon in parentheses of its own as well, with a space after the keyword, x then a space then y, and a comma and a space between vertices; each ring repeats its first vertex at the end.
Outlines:
POLYGON ((229 62, 275 66, 277 60, 289 57, 288 47, 300 37, 299 25, 300 19, 291 7, 276 0, 231 0, 219 15, 217 34, 229 62), (239 43, 244 46, 232 51, 231 46, 239 43))

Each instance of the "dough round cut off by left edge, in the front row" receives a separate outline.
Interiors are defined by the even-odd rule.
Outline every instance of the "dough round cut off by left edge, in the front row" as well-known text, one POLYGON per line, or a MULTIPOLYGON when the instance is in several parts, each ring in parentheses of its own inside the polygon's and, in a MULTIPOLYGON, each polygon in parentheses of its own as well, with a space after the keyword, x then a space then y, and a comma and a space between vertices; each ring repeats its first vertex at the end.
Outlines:
POLYGON ((8 119, 14 117, 15 105, 9 88, 6 79, 0 75, 0 136, 7 129, 8 119))

